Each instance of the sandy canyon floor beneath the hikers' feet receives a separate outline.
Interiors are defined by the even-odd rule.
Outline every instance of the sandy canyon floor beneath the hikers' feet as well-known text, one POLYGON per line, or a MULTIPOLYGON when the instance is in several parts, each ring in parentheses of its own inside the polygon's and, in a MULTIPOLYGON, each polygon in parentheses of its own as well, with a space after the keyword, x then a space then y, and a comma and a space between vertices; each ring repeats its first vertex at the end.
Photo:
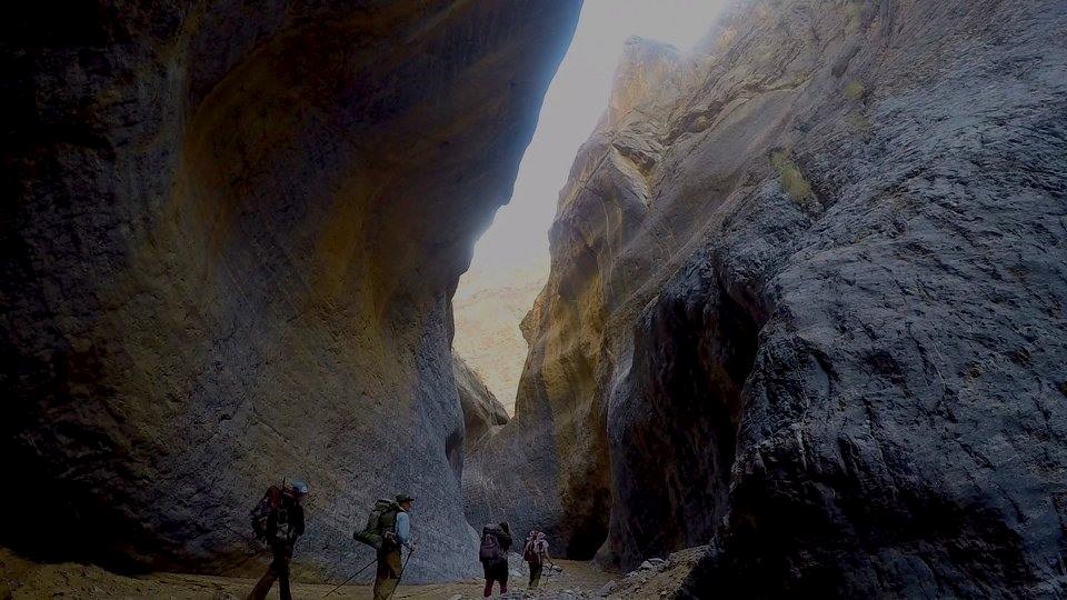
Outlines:
MULTIPOLYGON (((619 577, 605 573, 588 562, 560 560, 561 573, 546 574, 541 590, 525 591, 526 578, 511 578, 509 598, 590 598, 605 584, 619 577)), ((60 563, 40 564, 26 561, 7 550, 0 550, 0 598, 159 598, 159 599, 238 599, 245 598, 256 581, 252 579, 211 577, 181 573, 153 573, 143 577, 124 577, 99 567, 60 563)), ((322 598, 335 584, 295 583, 295 598, 322 598)), ((402 586, 393 598, 460 600, 481 598, 481 581, 460 581, 429 586, 402 586)), ((275 587, 268 598, 278 598, 275 587)), ((345 586, 329 598, 369 599, 368 586, 345 586)))

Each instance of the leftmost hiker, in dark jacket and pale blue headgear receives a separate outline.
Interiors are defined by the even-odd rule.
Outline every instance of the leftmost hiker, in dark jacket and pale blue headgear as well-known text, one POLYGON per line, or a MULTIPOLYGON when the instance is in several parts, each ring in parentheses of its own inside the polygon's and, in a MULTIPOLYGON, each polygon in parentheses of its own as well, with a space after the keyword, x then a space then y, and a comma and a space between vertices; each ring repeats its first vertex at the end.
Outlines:
POLYGON ((300 501, 308 494, 308 486, 293 481, 281 488, 267 489, 259 504, 252 509, 252 531, 256 538, 270 547, 273 560, 267 572, 248 594, 249 600, 262 600, 278 581, 281 600, 292 600, 289 591, 289 561, 297 538, 303 536, 303 507, 300 501))

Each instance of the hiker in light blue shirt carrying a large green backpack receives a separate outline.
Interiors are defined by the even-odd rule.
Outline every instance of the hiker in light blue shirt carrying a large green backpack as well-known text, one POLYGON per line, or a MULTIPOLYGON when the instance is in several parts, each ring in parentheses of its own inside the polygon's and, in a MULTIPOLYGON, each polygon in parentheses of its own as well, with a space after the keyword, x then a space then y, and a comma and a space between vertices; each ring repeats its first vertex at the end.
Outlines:
POLYGON ((411 541, 411 519, 408 512, 415 498, 406 493, 397 501, 378 500, 362 531, 356 531, 356 541, 372 547, 378 552, 378 570, 375 572, 375 600, 387 600, 396 591, 403 574, 400 549, 408 549, 408 558, 415 552, 411 541))

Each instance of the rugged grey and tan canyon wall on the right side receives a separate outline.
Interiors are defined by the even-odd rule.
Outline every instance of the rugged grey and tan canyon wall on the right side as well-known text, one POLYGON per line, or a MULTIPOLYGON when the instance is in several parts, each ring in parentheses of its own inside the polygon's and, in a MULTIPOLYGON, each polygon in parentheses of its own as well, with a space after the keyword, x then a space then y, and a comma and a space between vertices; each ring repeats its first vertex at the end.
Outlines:
POLYGON ((632 42, 492 440, 538 460, 477 458, 468 513, 526 486, 622 568, 711 542, 694 598, 1063 593, 1065 26, 798 0, 632 42))

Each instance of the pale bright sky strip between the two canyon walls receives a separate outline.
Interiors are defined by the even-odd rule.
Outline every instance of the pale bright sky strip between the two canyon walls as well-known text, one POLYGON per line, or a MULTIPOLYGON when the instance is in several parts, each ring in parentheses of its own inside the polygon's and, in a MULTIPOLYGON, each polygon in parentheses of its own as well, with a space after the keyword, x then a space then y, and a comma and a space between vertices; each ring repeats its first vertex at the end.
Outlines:
MULTIPOLYGON (((545 97, 515 192, 475 247, 471 273, 548 262, 548 228, 570 164, 608 104, 611 77, 630 36, 689 50, 722 0, 586 0, 574 41, 545 97)), ((497 271, 497 272, 495 272, 497 271)), ((461 284, 462 286, 462 284, 461 284)))

